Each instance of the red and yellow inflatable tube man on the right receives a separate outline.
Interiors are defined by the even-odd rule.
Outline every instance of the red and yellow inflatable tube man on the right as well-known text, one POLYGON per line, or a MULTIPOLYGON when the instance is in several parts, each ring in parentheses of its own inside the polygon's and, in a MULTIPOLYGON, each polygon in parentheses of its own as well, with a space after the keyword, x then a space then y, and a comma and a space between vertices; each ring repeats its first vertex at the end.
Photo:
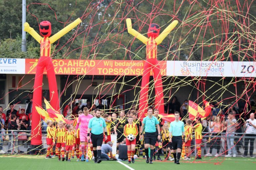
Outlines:
POLYGON ((146 44, 146 62, 144 64, 140 100, 139 100, 139 117, 144 118, 148 108, 148 85, 150 71, 153 70, 153 77, 155 82, 155 108, 159 110, 159 114, 164 113, 164 99, 163 86, 161 78, 161 70, 157 61, 157 45, 160 44, 165 37, 174 29, 178 21, 173 21, 160 35, 160 27, 157 24, 150 24, 148 29, 148 38, 137 32, 132 28, 131 19, 126 19, 128 33, 146 44))

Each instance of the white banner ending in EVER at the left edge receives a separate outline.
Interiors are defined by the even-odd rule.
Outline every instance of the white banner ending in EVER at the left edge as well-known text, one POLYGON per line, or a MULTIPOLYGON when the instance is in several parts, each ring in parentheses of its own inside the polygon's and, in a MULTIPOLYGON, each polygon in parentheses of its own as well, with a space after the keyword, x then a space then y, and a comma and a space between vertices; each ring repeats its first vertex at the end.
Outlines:
POLYGON ((25 59, 0 58, 0 74, 25 74, 25 59))

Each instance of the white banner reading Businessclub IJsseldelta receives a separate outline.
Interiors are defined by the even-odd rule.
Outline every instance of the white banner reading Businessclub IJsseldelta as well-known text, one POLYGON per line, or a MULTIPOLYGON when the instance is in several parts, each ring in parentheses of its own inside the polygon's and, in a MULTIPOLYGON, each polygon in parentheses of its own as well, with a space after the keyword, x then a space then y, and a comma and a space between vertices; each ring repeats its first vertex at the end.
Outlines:
POLYGON ((256 62, 167 61, 167 76, 255 77, 256 62))

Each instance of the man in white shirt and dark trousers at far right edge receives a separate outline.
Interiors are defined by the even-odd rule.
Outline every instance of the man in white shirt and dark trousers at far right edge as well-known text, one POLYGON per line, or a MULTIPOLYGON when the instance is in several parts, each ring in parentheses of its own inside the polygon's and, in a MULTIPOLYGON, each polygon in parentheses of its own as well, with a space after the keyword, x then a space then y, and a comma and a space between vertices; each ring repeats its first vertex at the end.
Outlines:
POLYGON ((250 136, 249 138, 245 138, 244 139, 244 155, 242 157, 247 157, 247 153, 248 153, 248 144, 250 141, 250 157, 254 158, 253 156, 253 143, 254 143, 254 139, 256 136, 256 119, 254 118, 255 115, 254 113, 250 114, 250 119, 248 119, 245 124, 244 124, 244 128, 246 128, 245 130, 245 136, 250 136))

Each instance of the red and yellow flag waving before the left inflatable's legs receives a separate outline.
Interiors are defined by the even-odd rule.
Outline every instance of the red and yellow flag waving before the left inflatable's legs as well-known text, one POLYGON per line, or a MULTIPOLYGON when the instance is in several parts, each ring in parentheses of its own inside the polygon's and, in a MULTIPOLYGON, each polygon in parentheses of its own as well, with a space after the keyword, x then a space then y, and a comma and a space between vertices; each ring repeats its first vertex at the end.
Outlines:
POLYGON ((49 104, 49 102, 46 99, 44 99, 44 103, 46 105, 46 111, 42 107, 36 106, 36 111, 41 115, 41 117, 44 120, 52 120, 56 122, 62 121, 67 124, 73 124, 73 121, 64 118, 62 114, 53 109, 53 107, 49 104))

